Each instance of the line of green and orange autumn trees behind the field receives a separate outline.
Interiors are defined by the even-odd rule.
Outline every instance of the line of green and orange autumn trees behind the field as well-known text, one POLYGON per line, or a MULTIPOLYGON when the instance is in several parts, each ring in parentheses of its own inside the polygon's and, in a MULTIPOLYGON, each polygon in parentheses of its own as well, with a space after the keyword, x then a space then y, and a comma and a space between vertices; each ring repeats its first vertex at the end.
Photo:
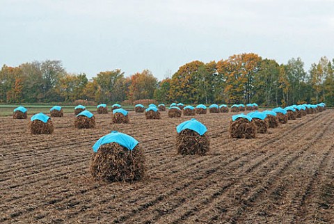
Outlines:
POLYGON ((158 81, 150 70, 125 77, 121 70, 100 72, 88 80, 86 74, 66 72, 61 61, 3 65, 0 70, 0 102, 97 103, 158 102, 184 104, 247 104, 285 106, 325 102, 334 104, 334 59, 321 57, 304 70, 301 58, 279 65, 257 54, 236 54, 209 63, 192 61, 171 78, 158 81))

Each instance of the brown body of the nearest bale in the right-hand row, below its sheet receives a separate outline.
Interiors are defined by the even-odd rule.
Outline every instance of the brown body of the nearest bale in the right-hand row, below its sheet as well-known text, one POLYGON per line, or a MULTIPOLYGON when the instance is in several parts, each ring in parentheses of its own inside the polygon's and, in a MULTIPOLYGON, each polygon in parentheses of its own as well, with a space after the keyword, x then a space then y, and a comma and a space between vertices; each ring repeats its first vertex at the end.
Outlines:
POLYGON ((231 120, 229 131, 231 138, 255 138, 256 136, 255 124, 246 118, 231 120))

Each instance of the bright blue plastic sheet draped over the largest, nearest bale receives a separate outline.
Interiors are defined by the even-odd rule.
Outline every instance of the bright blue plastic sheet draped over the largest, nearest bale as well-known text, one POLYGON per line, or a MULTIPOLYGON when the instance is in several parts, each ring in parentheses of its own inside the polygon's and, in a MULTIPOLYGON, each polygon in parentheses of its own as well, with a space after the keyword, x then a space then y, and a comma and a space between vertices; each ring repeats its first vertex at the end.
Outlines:
POLYGON ((134 147, 138 145, 138 141, 136 141, 136 139, 132 136, 120 133, 118 131, 111 131, 110 134, 107 134, 97 140, 97 142, 93 145, 93 152, 97 152, 101 145, 109 143, 118 143, 119 145, 126 147, 128 150, 133 150, 134 147))

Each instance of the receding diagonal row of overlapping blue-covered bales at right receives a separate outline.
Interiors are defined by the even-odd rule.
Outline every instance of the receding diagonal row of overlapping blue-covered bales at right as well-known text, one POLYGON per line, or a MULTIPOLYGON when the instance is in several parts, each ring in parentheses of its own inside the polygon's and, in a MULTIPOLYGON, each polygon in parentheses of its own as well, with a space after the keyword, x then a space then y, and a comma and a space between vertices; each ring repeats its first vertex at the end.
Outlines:
POLYGON ((266 134, 269 128, 276 128, 279 124, 286 124, 288 120, 296 120, 307 114, 326 110, 326 104, 303 104, 280 107, 267 111, 252 111, 244 114, 232 115, 230 120, 230 136, 232 138, 255 138, 257 133, 266 134))

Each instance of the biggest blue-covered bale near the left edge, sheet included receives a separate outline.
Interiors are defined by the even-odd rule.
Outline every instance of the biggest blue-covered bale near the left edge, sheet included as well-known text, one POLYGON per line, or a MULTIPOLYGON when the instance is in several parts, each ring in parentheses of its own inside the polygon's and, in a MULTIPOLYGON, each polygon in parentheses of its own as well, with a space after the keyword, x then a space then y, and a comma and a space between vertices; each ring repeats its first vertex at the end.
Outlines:
POLYGON ((54 132, 54 124, 51 118, 44 113, 37 113, 31 117, 29 122, 31 134, 52 134, 54 132))

